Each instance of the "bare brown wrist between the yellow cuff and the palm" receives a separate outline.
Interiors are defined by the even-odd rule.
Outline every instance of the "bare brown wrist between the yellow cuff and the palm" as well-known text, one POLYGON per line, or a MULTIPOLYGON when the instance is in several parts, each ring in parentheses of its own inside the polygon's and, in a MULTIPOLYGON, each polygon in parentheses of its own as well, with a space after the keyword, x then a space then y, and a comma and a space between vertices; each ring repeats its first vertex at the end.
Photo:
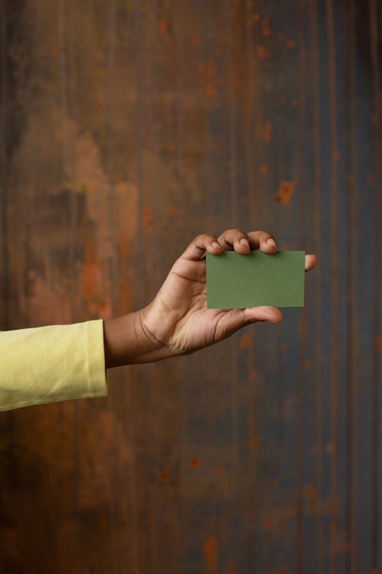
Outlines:
POLYGON ((162 344, 145 328, 145 309, 104 321, 105 368, 164 358, 162 344))

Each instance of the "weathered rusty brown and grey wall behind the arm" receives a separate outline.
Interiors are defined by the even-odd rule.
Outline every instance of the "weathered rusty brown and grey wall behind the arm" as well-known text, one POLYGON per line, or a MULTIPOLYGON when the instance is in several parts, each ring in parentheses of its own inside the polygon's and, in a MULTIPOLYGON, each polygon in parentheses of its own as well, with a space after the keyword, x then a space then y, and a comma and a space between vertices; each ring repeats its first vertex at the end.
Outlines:
POLYGON ((200 232, 319 258, 281 325, 1 413, 1 573, 382 571, 381 13, 0 0, 2 330, 140 308, 200 232))

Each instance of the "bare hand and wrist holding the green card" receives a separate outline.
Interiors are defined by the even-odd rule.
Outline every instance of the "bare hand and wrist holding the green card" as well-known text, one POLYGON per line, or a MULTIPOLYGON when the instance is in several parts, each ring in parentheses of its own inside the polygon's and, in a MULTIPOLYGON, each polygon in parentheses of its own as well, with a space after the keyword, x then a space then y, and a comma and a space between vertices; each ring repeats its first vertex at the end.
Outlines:
MULTIPOLYGON (((227 230, 219 238, 198 235, 175 261, 147 307, 104 321, 106 368, 189 355, 251 323, 281 323, 282 313, 276 307, 207 309, 206 251, 246 254, 255 249, 275 253, 274 236, 238 229, 227 230)), ((305 272, 316 264, 316 255, 305 255, 305 272)))

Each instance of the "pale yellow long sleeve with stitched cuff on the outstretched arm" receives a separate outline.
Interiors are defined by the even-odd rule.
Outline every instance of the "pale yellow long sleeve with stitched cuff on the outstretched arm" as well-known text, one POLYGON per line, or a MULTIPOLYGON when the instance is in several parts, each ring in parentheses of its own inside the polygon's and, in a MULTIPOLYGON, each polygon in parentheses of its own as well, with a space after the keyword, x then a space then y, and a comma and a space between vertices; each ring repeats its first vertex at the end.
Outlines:
POLYGON ((0 331, 0 410, 107 394, 102 319, 0 331))

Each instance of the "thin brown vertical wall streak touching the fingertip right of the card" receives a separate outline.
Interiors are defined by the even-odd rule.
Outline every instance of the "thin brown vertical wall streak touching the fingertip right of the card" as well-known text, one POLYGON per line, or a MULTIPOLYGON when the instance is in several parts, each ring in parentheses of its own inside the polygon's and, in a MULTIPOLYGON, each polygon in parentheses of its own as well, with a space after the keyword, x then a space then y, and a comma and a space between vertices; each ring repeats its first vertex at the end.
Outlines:
MULTIPOLYGON (((316 346, 314 350, 316 369, 316 472, 317 500, 322 505, 322 324, 321 324, 321 137, 320 137, 320 44, 318 40, 317 0, 311 2, 312 18, 312 102, 313 102, 313 185, 314 185, 314 249, 318 265, 316 274, 316 346)), ((322 536, 321 512, 316 517, 317 574, 324 572, 324 538, 322 536)))

